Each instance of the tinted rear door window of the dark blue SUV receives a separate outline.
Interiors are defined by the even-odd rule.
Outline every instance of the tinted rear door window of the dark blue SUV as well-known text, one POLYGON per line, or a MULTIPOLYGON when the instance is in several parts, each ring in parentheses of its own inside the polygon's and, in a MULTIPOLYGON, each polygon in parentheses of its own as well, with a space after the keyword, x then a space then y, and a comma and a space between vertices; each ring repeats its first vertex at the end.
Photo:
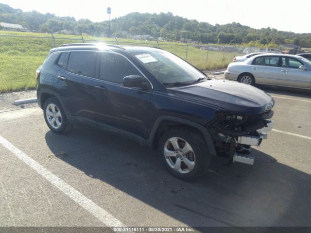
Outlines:
POLYGON ((97 52, 92 51, 70 52, 67 70, 71 73, 94 77, 96 57, 97 52))

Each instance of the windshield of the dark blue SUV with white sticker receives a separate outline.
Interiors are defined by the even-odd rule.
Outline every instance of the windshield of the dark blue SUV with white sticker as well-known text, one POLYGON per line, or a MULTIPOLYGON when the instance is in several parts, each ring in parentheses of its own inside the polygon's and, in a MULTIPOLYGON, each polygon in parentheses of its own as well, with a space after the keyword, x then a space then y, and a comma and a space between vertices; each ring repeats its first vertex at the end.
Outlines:
POLYGON ((136 53, 134 56, 161 83, 192 83, 206 78, 199 70, 167 51, 136 53))

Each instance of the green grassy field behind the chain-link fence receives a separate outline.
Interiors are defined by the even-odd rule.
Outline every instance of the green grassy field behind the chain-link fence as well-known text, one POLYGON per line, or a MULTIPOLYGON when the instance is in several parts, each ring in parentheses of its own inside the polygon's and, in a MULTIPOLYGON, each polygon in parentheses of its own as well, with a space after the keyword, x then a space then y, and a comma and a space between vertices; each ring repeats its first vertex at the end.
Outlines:
MULTIPOLYGON (((18 33, 0 31, 0 34, 10 35, 32 35, 45 36, 51 38, 34 37, 12 37, 0 36, 0 92, 9 92, 35 88, 35 70, 46 58, 49 50, 62 44, 82 43, 81 36, 56 35, 54 42, 51 34, 44 33, 18 33)), ((88 40, 101 40, 109 44, 119 45, 144 45, 159 46, 162 49, 173 52, 181 58, 186 58, 186 44, 175 42, 137 41, 118 39, 118 42, 111 38, 84 36, 85 42, 88 40), (142 44, 143 43, 143 44, 142 44)), ((234 53, 222 51, 209 51, 207 60, 207 50, 199 50, 194 46, 188 47, 187 61, 193 66, 201 69, 214 69, 226 67, 233 59, 234 53)))

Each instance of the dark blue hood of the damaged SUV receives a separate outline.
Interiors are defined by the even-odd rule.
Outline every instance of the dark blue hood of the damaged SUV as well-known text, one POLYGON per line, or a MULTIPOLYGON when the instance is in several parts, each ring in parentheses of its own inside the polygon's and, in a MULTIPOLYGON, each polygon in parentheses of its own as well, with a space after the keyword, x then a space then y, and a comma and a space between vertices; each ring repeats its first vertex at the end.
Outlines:
POLYGON ((272 97, 258 88, 227 80, 209 80, 174 88, 176 96, 217 106, 232 113, 261 114, 273 107, 272 97))

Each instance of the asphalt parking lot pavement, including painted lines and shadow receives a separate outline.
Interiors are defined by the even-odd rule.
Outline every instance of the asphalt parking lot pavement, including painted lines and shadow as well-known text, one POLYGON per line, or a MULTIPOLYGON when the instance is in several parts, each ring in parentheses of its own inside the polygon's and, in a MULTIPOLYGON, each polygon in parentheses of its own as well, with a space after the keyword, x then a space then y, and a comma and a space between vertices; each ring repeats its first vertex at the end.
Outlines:
POLYGON ((276 131, 254 166, 214 157, 193 182, 135 141, 54 134, 37 106, 0 113, 0 226, 311 226, 311 92, 259 88, 276 101, 276 131))

